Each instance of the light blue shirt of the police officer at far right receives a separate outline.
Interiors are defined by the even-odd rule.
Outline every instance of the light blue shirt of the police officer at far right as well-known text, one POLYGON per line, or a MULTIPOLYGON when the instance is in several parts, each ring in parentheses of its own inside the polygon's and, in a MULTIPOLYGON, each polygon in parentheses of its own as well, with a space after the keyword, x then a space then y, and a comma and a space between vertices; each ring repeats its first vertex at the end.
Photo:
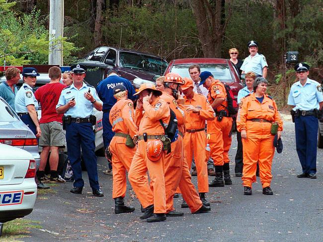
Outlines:
POLYGON ((295 82, 288 95, 288 105, 295 106, 297 109, 311 111, 320 109, 319 103, 323 102, 321 84, 315 80, 307 78, 303 86, 300 81, 295 82))

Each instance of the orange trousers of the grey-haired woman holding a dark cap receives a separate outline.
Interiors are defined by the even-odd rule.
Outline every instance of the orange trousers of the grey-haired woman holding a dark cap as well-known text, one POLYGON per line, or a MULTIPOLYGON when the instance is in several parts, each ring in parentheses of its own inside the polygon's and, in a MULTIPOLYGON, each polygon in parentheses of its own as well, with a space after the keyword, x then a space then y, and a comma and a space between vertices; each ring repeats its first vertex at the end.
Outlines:
POLYGON ((247 121, 247 138, 242 139, 243 145, 243 186, 256 182, 257 162, 262 187, 270 186, 272 179, 271 164, 274 157, 274 135, 270 134, 271 124, 268 122, 247 121))

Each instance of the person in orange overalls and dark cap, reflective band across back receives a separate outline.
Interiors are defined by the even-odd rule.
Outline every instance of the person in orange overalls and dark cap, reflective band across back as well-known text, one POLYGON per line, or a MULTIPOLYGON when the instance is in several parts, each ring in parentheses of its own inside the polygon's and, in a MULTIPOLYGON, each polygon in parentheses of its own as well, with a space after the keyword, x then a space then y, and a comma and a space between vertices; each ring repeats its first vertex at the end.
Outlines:
POLYGON ((138 130, 134 122, 134 106, 132 101, 127 99, 128 91, 126 87, 123 85, 115 86, 113 96, 117 99, 117 102, 111 108, 109 119, 115 135, 111 140, 109 149, 112 153, 114 212, 116 214, 131 213, 135 211, 135 208, 124 205, 127 190, 126 171, 129 171, 132 158, 136 153, 136 145, 132 137, 137 135, 138 130))

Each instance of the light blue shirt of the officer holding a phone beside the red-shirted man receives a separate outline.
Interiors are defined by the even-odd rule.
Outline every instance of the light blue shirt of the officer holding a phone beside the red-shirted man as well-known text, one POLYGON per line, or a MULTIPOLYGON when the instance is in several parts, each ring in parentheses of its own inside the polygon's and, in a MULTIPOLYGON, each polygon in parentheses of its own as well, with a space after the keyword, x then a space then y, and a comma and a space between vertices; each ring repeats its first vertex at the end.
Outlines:
POLYGON ((97 102, 100 102, 101 100, 97 96, 95 88, 93 86, 86 85, 83 82, 80 90, 77 89, 74 84, 64 88, 56 105, 56 109, 66 105, 68 101, 75 98, 76 105, 66 111, 65 116, 71 115, 72 118, 88 118, 93 113, 93 104, 84 97, 84 93, 87 92, 88 89, 90 89, 90 93, 93 98, 97 102))

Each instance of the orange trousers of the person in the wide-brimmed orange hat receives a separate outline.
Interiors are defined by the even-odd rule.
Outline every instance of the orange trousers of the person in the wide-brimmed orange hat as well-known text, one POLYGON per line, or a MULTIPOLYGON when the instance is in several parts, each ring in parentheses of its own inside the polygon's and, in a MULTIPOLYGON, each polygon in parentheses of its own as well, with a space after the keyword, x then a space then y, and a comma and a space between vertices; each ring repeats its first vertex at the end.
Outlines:
POLYGON ((166 212, 164 152, 161 159, 151 161, 146 153, 147 142, 140 140, 132 159, 128 174, 129 182, 144 208, 154 204, 154 213, 166 212), (151 179, 153 191, 148 182, 147 171, 151 179))

